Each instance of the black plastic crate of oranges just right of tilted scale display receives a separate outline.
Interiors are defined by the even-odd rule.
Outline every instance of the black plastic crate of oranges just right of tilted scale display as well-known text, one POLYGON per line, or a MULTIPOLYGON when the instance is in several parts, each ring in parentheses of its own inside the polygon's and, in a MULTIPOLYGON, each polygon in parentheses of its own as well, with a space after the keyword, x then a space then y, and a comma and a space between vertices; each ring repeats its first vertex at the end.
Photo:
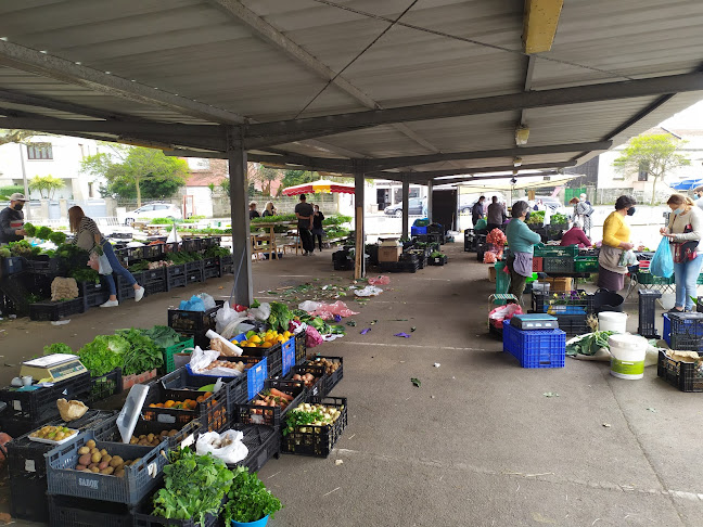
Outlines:
POLYGON ((170 389, 164 388, 162 384, 153 384, 146 395, 146 400, 142 407, 142 419, 153 421, 170 426, 170 428, 181 428, 193 420, 199 420, 204 432, 220 432, 229 423, 228 407, 229 394, 227 390, 220 390, 209 396, 202 402, 195 402, 191 410, 176 408, 159 408, 152 404, 165 403, 166 401, 183 402, 187 399, 196 401, 203 396, 203 391, 194 389, 170 389))

